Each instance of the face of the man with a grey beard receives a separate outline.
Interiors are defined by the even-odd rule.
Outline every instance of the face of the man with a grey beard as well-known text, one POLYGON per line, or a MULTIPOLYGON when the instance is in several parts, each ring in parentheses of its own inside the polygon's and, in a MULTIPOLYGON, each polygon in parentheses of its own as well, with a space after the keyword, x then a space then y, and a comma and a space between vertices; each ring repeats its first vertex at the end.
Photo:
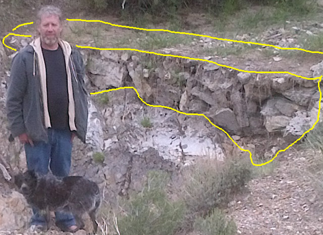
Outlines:
POLYGON ((59 17, 57 15, 42 16, 38 25, 38 32, 40 33, 41 43, 48 46, 55 45, 62 32, 59 17))

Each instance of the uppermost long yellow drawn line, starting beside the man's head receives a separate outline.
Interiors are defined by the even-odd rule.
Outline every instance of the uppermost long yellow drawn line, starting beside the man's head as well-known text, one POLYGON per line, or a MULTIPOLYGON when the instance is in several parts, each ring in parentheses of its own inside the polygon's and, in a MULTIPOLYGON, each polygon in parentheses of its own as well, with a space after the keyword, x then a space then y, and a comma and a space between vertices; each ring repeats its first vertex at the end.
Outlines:
POLYGON ((121 28, 128 28, 128 29, 138 29, 138 30, 144 30, 144 31, 163 31, 163 32, 169 32, 169 33, 176 33, 176 34, 186 34, 186 35, 192 35, 192 36, 198 36, 198 37, 208 37, 216 40, 222 40, 222 41, 230 41, 230 42, 240 42, 240 43, 245 43, 245 44, 254 44, 254 45, 260 45, 260 46, 271 46, 277 49, 282 49, 282 50, 302 50, 310 53, 318 53, 318 54, 323 54, 322 51, 311 51, 311 50, 305 50, 302 48, 292 48, 292 47, 280 47, 280 46, 274 46, 271 44, 264 44, 264 43, 258 43, 258 42, 246 42, 246 41, 239 41, 239 40, 232 40, 232 39, 227 39, 227 38, 218 38, 218 37, 211 37, 208 35, 203 35, 203 34, 196 34, 196 33, 186 33, 186 32, 178 32, 178 31, 171 31, 168 29, 145 29, 145 28, 137 28, 137 27, 132 27, 132 26, 126 26, 126 25, 116 25, 112 24, 110 22, 105 22, 101 20, 82 20, 82 19, 66 19, 67 21, 84 21, 84 22, 100 22, 103 24, 108 24, 111 26, 115 27, 121 27, 121 28))

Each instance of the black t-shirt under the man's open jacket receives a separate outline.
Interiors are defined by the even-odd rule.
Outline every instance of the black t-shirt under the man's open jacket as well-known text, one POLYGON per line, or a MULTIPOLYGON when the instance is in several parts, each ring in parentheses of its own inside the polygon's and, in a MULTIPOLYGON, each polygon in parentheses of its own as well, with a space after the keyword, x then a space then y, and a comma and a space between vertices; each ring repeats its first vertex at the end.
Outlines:
POLYGON ((61 46, 57 50, 42 48, 46 66, 47 103, 51 128, 69 130, 68 90, 65 58, 61 46))

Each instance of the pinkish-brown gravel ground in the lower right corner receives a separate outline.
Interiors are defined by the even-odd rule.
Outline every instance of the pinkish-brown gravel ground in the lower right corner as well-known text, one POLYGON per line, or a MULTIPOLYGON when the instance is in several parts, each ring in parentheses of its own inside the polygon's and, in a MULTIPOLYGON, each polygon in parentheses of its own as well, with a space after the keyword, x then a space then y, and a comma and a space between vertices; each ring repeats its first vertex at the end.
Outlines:
POLYGON ((238 234, 323 234, 322 197, 309 173, 314 156, 288 151, 275 159, 280 164, 271 175, 249 182, 250 192, 228 210, 238 234))

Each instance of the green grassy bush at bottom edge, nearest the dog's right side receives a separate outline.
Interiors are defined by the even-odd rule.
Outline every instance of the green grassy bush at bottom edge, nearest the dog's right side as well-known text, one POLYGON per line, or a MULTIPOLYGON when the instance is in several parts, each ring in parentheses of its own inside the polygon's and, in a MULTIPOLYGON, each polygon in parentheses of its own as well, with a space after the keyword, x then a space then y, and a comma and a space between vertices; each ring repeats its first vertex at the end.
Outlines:
POLYGON ((183 218, 184 204, 170 201, 164 191, 169 175, 162 171, 150 171, 147 179, 142 192, 125 202, 125 216, 118 219, 120 234, 174 234, 183 218))

